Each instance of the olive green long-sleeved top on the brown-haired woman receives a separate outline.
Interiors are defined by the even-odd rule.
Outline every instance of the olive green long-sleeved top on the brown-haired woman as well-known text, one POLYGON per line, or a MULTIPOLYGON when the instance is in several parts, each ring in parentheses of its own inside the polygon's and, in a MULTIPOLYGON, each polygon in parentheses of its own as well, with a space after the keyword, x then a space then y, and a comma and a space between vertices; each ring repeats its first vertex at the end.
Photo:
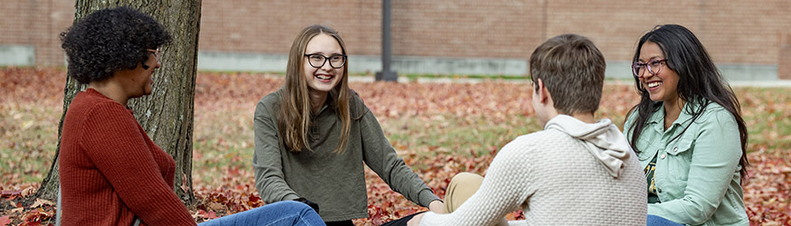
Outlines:
POLYGON ((256 147, 252 165, 256 188, 264 202, 304 197, 318 203, 325 221, 366 218, 368 196, 363 163, 412 202, 428 206, 439 200, 396 154, 379 121, 356 93, 349 100, 353 119, 342 154, 333 153, 343 123, 329 99, 313 118, 315 126, 308 135, 313 151, 288 151, 281 145, 278 133, 277 115, 283 92, 279 89, 259 101, 253 123, 256 147))

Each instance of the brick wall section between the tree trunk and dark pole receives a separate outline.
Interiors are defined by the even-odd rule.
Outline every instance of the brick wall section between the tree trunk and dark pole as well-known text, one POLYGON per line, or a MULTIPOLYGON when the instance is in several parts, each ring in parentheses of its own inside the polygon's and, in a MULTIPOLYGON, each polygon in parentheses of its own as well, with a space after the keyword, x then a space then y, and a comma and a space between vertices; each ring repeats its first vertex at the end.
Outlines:
POLYGON ((215 52, 288 52, 302 28, 327 24, 349 52, 380 50, 381 4, 357 1, 203 1, 200 47, 215 52), (363 44, 360 44, 363 43, 363 44))

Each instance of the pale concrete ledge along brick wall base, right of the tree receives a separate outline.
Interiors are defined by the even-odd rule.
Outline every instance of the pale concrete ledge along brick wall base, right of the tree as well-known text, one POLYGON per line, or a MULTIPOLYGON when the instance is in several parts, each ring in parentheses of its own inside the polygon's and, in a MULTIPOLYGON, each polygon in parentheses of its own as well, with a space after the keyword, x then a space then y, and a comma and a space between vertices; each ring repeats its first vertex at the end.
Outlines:
MULTIPOLYGON (((204 71, 286 71, 287 54, 243 52, 198 52, 198 69, 204 71)), ((392 70, 400 74, 438 75, 507 75, 527 74, 526 59, 515 58, 441 58, 393 56, 392 70)), ((720 64, 722 76, 728 81, 778 80, 777 65, 720 64)), ((607 79, 633 78, 629 61, 607 61, 607 79)), ((374 73, 381 71, 380 56, 351 55, 349 71, 374 73)))

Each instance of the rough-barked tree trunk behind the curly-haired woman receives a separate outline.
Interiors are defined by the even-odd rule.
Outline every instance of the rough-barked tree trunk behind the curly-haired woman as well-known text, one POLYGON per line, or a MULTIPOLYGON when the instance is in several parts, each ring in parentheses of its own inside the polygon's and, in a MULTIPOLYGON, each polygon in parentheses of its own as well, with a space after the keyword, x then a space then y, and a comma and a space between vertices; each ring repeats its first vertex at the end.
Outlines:
MULTIPOLYGON (((196 64, 198 62, 198 32, 201 22, 202 0, 77 0, 74 21, 104 8, 127 5, 149 14, 165 26, 173 42, 163 46, 162 68, 154 75, 154 90, 143 98, 130 99, 128 106, 135 118, 146 129, 148 136, 175 160, 174 192, 189 205, 193 195, 193 111, 196 64)), ((58 147, 50 173, 44 177, 35 198, 54 200, 60 185, 58 154, 61 150, 63 118, 80 90, 87 86, 77 80, 66 79, 63 114, 58 126, 58 147)))

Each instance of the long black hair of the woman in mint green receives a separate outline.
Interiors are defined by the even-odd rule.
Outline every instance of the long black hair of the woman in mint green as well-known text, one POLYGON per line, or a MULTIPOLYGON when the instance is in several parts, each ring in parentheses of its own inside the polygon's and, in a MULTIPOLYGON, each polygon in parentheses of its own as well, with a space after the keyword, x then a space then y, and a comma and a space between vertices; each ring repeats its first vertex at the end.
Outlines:
MULTIPOLYGON (((657 25, 651 32, 645 33, 640 38, 640 42, 637 43, 635 57, 632 59, 633 62, 639 59, 640 50, 645 42, 654 42, 659 45, 659 48, 664 52, 664 58, 667 60, 667 67, 678 74, 677 90, 679 98, 692 105, 702 106, 702 108, 689 112, 692 118, 700 117, 705 107, 711 102, 727 109, 733 115, 733 118, 736 118, 741 140, 739 164, 742 167, 739 174, 742 181, 744 181, 747 175, 747 167, 749 166, 747 159, 748 135, 744 119, 741 118, 739 99, 736 99, 733 89, 730 89, 730 86, 722 79, 720 71, 714 65, 714 62, 711 61, 711 57, 706 52, 706 49, 703 48, 703 44, 695 37, 694 33, 682 25, 657 25)), ((648 120, 651 113, 662 106, 662 103, 651 100, 648 91, 645 90, 640 80, 636 77, 635 86, 637 93, 640 94, 640 103, 629 110, 626 118, 636 110, 637 119, 631 127, 624 129, 631 130, 632 138, 630 143, 632 148, 636 152, 640 152, 636 146, 637 138, 643 133, 645 121, 648 120)))

